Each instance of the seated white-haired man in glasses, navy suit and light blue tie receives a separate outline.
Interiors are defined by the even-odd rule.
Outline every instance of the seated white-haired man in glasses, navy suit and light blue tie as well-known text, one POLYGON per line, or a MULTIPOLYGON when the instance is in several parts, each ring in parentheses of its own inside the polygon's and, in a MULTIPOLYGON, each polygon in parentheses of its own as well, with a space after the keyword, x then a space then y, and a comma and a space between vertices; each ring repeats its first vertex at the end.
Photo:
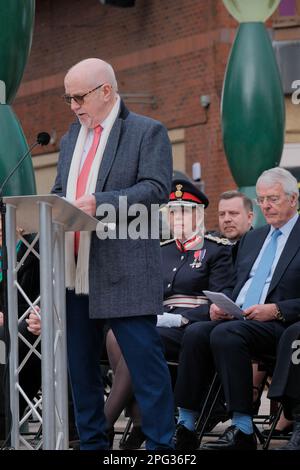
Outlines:
POLYGON ((249 231, 240 241, 236 276, 227 293, 244 310, 234 320, 216 305, 211 321, 186 329, 175 397, 185 426, 201 409, 214 369, 220 376, 232 426, 201 448, 255 449, 252 425, 252 359, 275 354, 286 326, 299 319, 300 221, 296 179, 282 168, 265 171, 257 181, 257 202, 269 225, 249 231), (191 371, 197 361, 198 373, 191 371))

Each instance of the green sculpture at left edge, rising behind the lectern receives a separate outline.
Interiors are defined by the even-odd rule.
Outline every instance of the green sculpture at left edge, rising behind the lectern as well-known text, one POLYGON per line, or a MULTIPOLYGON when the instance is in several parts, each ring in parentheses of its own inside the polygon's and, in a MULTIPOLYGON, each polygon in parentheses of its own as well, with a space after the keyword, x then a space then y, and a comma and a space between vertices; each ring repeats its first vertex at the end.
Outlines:
MULTIPOLYGON (((0 0, 0 186, 28 150, 11 104, 29 56, 35 0, 0 0)), ((31 158, 27 158, 4 188, 4 195, 35 194, 31 158)))

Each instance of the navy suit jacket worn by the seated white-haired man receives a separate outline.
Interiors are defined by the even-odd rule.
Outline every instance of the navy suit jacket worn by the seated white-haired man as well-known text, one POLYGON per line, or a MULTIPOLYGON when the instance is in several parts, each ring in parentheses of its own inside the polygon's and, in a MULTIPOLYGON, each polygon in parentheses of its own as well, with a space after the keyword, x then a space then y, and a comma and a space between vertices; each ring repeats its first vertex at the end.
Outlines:
MULTIPOLYGON (((270 226, 251 230, 241 239, 236 260, 232 299, 236 300, 269 233, 270 226)), ((265 303, 276 303, 286 322, 300 319, 300 218, 298 218, 275 268, 265 303)))

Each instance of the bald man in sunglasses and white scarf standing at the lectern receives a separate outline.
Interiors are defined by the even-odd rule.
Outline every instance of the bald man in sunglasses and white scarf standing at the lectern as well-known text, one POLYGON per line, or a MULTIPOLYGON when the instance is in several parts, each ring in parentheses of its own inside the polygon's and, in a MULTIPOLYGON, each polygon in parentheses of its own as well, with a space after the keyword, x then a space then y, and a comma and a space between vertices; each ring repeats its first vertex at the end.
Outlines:
POLYGON ((106 62, 76 64, 64 84, 78 119, 62 139, 52 191, 92 216, 114 213, 119 230, 106 239, 81 233, 66 240, 68 361, 81 449, 108 448, 99 363, 105 319, 130 369, 147 448, 169 448, 174 408, 156 331, 162 310, 159 239, 149 233, 124 237, 121 203, 125 215, 133 204, 143 205, 151 226, 153 205, 168 201, 170 142, 161 123, 126 109, 106 62))

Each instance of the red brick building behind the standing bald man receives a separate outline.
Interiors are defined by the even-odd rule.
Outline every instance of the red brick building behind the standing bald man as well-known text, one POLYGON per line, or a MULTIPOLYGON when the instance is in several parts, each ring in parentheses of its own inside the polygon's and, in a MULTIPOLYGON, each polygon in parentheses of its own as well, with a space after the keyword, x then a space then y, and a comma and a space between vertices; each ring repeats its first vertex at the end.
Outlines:
MULTIPOLYGON (((51 187, 59 141, 73 119, 61 99, 64 75, 84 58, 100 57, 113 65, 128 107, 166 125, 174 168, 192 176, 192 164, 201 163, 211 200, 207 227, 214 227, 218 195, 236 187, 220 125, 236 27, 221 0, 135 0, 132 8, 99 0, 37 0, 32 50, 14 109, 28 142, 43 130, 52 135, 47 156, 34 158, 38 191, 51 187), (206 108, 203 96, 210 98, 206 108)), ((289 29, 297 35, 297 21, 289 29)))

